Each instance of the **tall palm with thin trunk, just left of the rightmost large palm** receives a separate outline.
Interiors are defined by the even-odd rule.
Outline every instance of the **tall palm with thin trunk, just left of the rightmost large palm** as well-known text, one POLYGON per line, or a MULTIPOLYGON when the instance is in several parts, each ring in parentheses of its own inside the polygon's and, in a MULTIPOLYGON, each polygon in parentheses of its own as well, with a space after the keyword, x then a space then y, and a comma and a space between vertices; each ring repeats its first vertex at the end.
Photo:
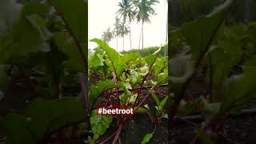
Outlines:
MULTIPOLYGON (((122 18, 123 24, 125 25, 128 22, 129 30, 130 30, 130 22, 132 22, 135 18, 134 5, 130 0, 122 0, 122 2, 118 2, 118 6, 120 7, 117 12, 117 17, 122 18)), ((131 32, 129 32, 131 33, 131 32)), ((131 50, 131 34, 130 34, 130 50, 131 50)))

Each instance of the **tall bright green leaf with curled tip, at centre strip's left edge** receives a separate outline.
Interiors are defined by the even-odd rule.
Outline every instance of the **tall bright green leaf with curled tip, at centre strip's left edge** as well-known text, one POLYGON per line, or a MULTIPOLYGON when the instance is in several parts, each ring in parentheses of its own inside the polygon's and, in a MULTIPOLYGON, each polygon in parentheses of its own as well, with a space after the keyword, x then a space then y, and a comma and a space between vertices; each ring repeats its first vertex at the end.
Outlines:
POLYGON ((90 42, 96 42, 98 46, 106 52, 107 57, 110 59, 110 68, 119 78, 122 74, 122 71, 126 68, 126 65, 122 61, 121 55, 110 46, 103 42, 101 39, 94 38, 90 42))

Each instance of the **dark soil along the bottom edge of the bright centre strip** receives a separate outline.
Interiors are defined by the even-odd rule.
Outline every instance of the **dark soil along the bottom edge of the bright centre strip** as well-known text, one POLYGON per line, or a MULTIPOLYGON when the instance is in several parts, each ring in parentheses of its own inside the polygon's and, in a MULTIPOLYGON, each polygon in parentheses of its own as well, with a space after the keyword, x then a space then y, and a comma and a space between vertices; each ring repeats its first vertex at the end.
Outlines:
MULTIPOLYGON (((111 134, 114 133, 115 130, 118 129, 117 122, 113 122, 112 126, 106 131, 106 134, 102 135, 102 137, 98 140, 97 143, 102 142, 106 138, 108 138, 111 134)), ((120 134, 119 140, 122 144, 140 144, 142 142, 143 137, 146 134, 152 133, 154 131, 154 135, 150 140, 150 143, 159 143, 166 144, 168 143, 168 120, 163 120, 160 124, 156 126, 156 130, 154 131, 154 123, 151 122, 150 118, 146 114, 136 114, 129 122, 126 122, 126 125, 123 127, 122 132, 120 134)), ((110 141, 106 142, 109 144, 113 141, 113 138, 110 141)))

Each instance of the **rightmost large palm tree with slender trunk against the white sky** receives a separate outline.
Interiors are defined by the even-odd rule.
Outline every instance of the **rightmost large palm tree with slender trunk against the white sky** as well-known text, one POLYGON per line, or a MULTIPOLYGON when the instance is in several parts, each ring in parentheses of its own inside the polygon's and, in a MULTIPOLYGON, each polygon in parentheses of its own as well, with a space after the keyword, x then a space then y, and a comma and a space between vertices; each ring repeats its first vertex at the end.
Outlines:
POLYGON ((150 16, 155 15, 152 6, 158 3, 158 0, 134 0, 133 1, 136 11, 136 18, 138 22, 142 22, 142 55, 143 55, 143 25, 145 22, 150 22, 150 16))

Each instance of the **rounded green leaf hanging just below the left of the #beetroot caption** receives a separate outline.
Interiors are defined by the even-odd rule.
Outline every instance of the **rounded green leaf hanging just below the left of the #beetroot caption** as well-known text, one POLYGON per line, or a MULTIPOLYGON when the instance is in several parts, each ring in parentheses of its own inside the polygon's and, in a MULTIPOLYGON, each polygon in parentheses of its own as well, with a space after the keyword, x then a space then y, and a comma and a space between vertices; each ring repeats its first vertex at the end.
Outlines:
POLYGON ((110 123, 112 122, 111 115, 98 115, 96 110, 93 110, 90 116, 90 126, 92 132, 95 135, 102 135, 106 132, 106 130, 110 127, 110 123))

